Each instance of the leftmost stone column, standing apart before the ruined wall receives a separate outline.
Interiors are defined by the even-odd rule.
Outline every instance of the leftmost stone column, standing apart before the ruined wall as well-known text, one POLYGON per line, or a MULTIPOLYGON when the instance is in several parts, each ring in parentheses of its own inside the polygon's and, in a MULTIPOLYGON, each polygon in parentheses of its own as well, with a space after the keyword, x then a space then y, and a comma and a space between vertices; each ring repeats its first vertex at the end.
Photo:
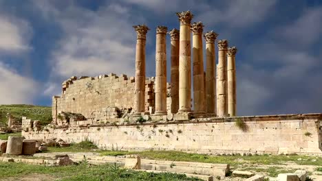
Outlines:
POLYGON ((149 27, 146 25, 135 25, 136 29, 136 82, 134 110, 136 114, 144 112, 145 93, 145 42, 149 27))

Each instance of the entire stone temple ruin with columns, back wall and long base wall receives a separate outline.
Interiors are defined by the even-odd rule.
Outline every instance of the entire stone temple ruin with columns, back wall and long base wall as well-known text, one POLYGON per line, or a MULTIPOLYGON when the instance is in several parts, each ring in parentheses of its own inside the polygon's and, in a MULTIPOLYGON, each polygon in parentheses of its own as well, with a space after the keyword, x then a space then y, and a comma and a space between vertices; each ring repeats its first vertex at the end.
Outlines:
POLYGON ((24 119, 23 136, 75 143, 89 139, 103 149, 321 154, 322 114, 236 117, 236 47, 217 40, 217 53, 218 34, 203 33, 201 22, 191 24, 189 11, 177 15, 180 30, 156 27, 155 77, 145 73, 149 28, 133 26, 135 77, 114 73, 70 77, 63 82, 61 96, 52 98, 52 123, 39 129, 24 119), (171 73, 167 73, 167 34, 171 36, 171 73))

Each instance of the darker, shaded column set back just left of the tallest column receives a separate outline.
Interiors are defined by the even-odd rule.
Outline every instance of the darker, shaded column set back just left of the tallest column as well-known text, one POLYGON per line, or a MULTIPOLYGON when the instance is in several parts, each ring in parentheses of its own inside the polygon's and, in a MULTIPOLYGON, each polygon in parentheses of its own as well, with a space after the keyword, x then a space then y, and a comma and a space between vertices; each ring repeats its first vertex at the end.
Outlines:
POLYGON ((178 29, 172 29, 171 36, 171 113, 179 110, 179 35, 178 29))

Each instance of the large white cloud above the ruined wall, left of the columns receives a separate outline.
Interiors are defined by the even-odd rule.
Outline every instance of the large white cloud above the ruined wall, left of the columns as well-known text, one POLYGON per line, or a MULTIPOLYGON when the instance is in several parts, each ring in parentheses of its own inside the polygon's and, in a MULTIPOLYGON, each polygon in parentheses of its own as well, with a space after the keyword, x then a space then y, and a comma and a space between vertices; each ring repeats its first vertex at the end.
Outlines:
POLYGON ((71 6, 55 16, 64 34, 52 51, 52 77, 134 74, 136 33, 127 8, 71 6))

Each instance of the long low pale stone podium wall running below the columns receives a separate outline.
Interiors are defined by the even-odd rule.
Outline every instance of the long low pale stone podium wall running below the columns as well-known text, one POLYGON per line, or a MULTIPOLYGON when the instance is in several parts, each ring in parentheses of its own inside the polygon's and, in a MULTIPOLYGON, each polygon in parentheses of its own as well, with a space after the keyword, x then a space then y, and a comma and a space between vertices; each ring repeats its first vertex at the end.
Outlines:
POLYGON ((50 128, 25 138, 89 139, 103 149, 161 149, 215 153, 322 154, 322 114, 288 114, 50 128), (235 121, 241 123, 238 127, 235 121), (244 125, 242 123, 245 123, 244 125))

